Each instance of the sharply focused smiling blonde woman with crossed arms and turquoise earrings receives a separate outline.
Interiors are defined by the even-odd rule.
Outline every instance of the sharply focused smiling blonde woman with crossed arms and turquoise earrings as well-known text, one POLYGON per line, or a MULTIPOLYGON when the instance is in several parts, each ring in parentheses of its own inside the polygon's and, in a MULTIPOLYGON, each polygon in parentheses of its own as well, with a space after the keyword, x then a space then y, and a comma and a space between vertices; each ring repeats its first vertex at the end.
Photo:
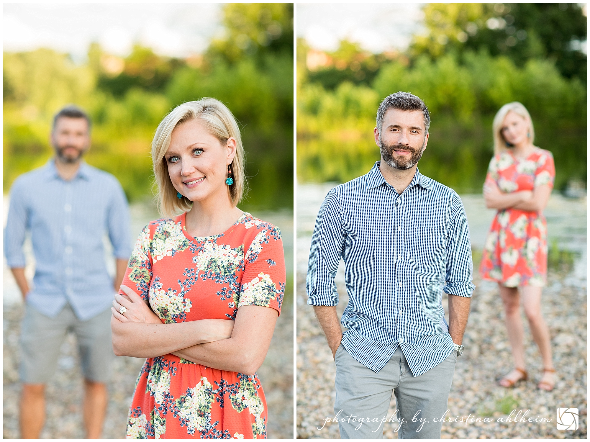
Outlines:
POLYGON ((168 217, 139 235, 112 309, 114 352, 148 358, 127 438, 264 438, 256 370, 283 300, 283 245, 237 208, 234 116, 211 98, 181 104, 158 126, 152 160, 168 217))

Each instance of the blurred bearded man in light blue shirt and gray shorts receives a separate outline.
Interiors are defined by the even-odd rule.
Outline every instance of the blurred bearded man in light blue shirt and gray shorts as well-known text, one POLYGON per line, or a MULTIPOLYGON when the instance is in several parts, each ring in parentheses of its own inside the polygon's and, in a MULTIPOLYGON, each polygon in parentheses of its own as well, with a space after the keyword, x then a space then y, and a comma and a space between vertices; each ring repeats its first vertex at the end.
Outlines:
POLYGON ((110 173, 82 156, 90 148, 90 119, 68 106, 53 119, 55 158, 17 178, 10 192, 4 247, 25 301, 21 325, 22 438, 38 438, 45 421, 45 384, 68 330, 76 334, 84 374, 87 438, 100 438, 107 406, 106 381, 114 357, 110 307, 130 255, 129 211, 110 173), (23 243, 29 230, 35 257, 30 287, 23 243), (114 280, 104 262, 107 233, 116 258, 114 280))

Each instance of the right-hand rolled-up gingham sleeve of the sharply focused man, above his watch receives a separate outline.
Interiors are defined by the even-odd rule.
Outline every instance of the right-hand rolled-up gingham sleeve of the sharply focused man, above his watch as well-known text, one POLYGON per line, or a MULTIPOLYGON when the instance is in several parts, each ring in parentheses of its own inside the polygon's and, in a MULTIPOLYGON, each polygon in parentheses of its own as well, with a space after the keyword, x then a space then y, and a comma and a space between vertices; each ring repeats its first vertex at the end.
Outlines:
POLYGON ((455 192, 451 201, 450 225, 447 235, 447 283, 445 293, 471 297, 473 289, 473 261, 467 215, 461 198, 455 192))

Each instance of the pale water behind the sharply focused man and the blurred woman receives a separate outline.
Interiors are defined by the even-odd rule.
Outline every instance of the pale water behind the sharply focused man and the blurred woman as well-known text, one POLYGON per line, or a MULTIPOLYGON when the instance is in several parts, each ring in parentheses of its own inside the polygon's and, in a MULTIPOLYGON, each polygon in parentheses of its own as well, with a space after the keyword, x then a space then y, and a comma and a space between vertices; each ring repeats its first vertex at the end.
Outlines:
MULTIPOLYGON (((309 247, 317 212, 327 192, 336 183, 297 185, 297 273, 305 274, 309 247)), ((471 244, 481 250, 486 234, 496 211, 487 209, 483 195, 460 195, 471 233, 471 244)), ((572 284, 586 286, 586 197, 569 199, 554 192, 545 209, 549 244, 554 241, 560 249, 576 253, 572 273, 568 276, 572 284)), ((344 283, 344 265, 340 261, 336 280, 344 283)))

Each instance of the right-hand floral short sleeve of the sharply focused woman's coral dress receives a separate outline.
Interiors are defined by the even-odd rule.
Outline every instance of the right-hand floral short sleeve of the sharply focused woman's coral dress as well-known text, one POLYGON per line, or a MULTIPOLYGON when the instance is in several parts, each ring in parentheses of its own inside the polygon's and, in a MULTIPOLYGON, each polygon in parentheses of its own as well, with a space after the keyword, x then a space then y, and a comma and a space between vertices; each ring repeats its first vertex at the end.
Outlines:
POLYGON ((257 226, 258 233, 244 255, 238 308, 271 307, 281 313, 285 292, 285 257, 281 233, 274 225, 257 226))

